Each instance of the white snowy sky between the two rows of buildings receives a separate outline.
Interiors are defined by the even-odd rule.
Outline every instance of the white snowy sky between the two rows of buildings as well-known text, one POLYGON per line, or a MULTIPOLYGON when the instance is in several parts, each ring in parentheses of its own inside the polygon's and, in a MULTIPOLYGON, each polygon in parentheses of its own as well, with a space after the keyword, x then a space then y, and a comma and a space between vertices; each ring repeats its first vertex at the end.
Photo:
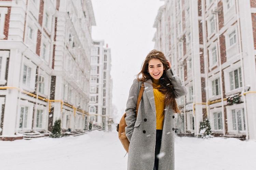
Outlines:
POLYGON ((123 115, 132 81, 140 72, 147 53, 154 48, 153 24, 160 0, 91 0, 96 20, 94 40, 111 48, 113 99, 123 115))

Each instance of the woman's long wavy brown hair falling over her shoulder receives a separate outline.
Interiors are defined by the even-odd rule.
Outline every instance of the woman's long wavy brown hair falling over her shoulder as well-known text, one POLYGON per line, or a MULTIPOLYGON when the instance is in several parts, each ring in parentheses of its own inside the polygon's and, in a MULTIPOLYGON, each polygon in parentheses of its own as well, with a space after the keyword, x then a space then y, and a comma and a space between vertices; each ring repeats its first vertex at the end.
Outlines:
POLYGON ((148 70, 148 63, 153 58, 159 59, 162 62, 164 70, 163 70, 162 76, 159 79, 160 87, 155 87, 153 84, 152 86, 154 88, 157 88, 162 94, 165 95, 165 105, 172 106, 173 111, 175 113, 180 113, 179 106, 177 105, 176 100, 173 96, 173 90, 174 90, 173 85, 166 75, 166 70, 169 69, 169 64, 167 62, 165 55, 161 51, 152 50, 150 51, 150 53, 147 54, 142 64, 141 71, 139 72, 139 74, 137 74, 137 79, 138 81, 142 81, 142 82, 152 79, 150 73, 147 70, 148 70), (139 78, 141 74, 142 74, 142 78, 139 78))

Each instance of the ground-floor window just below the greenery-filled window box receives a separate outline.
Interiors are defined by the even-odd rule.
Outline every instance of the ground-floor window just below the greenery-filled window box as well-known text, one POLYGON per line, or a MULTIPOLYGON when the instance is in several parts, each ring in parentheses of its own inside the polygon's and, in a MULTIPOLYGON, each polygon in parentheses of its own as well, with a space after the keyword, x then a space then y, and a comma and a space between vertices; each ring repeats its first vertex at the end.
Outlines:
POLYGON ((244 108, 232 109, 232 125, 235 131, 245 131, 244 108))

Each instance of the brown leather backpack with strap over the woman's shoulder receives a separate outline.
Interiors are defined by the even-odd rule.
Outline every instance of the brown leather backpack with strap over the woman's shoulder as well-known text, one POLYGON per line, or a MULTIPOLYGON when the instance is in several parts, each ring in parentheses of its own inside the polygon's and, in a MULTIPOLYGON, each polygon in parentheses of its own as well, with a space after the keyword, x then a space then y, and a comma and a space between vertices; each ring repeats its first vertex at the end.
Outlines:
MULTIPOLYGON (((140 92, 139 92, 139 96, 138 96, 138 100, 137 100, 137 106, 136 106, 136 118, 138 115, 138 108, 140 105, 143 91, 144 91, 144 84, 141 84, 141 88, 140 88, 140 92)), ((126 113, 122 116, 119 124, 117 124, 116 131, 118 132, 118 137, 119 137, 123 147, 125 148, 126 152, 128 153, 130 142, 125 134, 125 127, 127 126, 126 122, 125 122, 125 117, 126 117, 126 113)))

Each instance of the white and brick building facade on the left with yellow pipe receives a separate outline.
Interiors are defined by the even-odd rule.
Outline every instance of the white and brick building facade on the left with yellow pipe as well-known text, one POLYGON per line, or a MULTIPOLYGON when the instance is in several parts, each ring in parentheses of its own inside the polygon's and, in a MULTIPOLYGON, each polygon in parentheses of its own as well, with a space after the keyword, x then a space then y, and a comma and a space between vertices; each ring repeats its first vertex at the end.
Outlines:
POLYGON ((92 25, 90 0, 0 1, 0 139, 87 127, 92 25))

